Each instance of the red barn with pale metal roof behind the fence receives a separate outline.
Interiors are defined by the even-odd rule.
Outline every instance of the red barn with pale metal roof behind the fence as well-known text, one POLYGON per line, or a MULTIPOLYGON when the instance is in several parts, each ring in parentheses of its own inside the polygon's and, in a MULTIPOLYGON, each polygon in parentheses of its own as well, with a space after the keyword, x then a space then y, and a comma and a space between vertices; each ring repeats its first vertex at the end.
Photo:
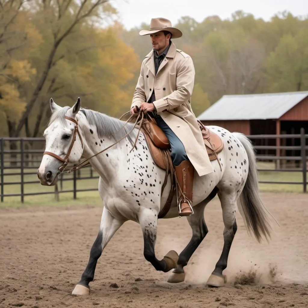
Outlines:
MULTIPOLYGON (((218 125, 245 135, 308 133, 308 91, 224 95, 205 110, 198 119, 204 125, 218 125)), ((256 145, 299 145, 299 140, 255 139, 256 145)), ((258 154, 275 155, 262 150, 258 154)), ((279 152, 276 151, 279 155, 279 152)), ((291 154, 291 153, 289 153, 291 154)), ((283 156, 289 156, 284 153, 283 156)), ((294 154, 292 154, 293 156, 294 154)), ((299 154, 300 155, 300 154, 299 154)))

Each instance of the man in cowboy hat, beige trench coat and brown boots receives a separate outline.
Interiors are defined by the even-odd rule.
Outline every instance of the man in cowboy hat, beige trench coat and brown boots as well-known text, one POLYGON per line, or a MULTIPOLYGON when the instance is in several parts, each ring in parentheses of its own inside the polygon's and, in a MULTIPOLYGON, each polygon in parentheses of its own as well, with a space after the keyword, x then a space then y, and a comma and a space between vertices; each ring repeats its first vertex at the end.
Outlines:
POLYGON ((149 30, 152 51, 141 64, 133 95, 131 113, 137 107, 150 114, 167 136, 178 182, 179 215, 193 214, 194 169, 199 176, 213 172, 197 118, 190 105, 195 69, 193 60, 176 49, 171 39, 182 32, 165 18, 152 18, 149 30))

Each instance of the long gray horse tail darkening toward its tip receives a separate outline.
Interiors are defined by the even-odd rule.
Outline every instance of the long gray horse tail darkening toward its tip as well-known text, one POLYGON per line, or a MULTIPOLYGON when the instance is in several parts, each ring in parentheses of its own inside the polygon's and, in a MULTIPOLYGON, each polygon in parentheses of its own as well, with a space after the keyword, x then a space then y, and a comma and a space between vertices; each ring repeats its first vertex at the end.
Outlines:
MULTIPOLYGON (((238 199, 239 212, 244 219, 249 234, 252 231, 258 242, 261 242, 262 235, 269 241, 272 229, 268 216, 270 212, 265 208, 259 195, 255 150, 245 135, 241 133, 233 134, 240 140, 248 156, 248 176, 238 199)), ((270 216, 272 215, 270 214, 270 216)))

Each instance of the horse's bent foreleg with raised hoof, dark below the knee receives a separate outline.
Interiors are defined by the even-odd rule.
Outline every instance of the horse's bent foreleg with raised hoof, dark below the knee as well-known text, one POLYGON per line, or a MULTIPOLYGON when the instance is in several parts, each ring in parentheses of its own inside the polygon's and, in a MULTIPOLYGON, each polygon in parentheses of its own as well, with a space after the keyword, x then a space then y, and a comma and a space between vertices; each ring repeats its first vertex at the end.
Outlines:
POLYGON ((145 209, 139 215, 139 223, 144 239, 144 257, 156 270, 168 272, 176 268, 179 255, 174 250, 170 250, 162 260, 155 256, 155 243, 157 236, 157 213, 153 210, 145 209))

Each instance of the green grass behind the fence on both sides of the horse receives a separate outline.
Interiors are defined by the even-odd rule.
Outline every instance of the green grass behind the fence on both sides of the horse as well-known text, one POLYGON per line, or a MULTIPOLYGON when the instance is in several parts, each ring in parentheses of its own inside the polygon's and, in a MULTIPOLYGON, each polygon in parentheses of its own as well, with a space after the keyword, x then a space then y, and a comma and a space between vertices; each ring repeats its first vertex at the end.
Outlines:
MULTIPOLYGON (((259 181, 269 182, 301 182, 302 172, 282 172, 273 171, 275 168, 273 163, 258 162, 258 169, 267 169, 266 171, 259 172, 259 181)), ((55 186, 48 187, 42 186, 39 183, 36 172, 37 168, 25 169, 25 172, 32 174, 24 174, 24 182, 33 182, 31 184, 24 184, 24 193, 40 193, 49 192, 50 194, 43 195, 30 195, 24 197, 24 203, 21 203, 20 196, 4 197, 4 202, 0 203, 0 207, 27 207, 27 206, 79 206, 79 205, 94 205, 99 206, 102 201, 99 197, 97 190, 98 187, 98 174, 93 171, 90 179, 79 179, 77 177, 76 187, 78 189, 93 189, 93 191, 78 192, 77 199, 73 199, 73 192, 61 192, 60 181, 58 180, 59 201, 55 200, 55 186)), ((90 177, 90 168, 80 169, 81 177, 90 177)), ((73 190, 73 173, 64 174, 62 190, 73 190)), ((21 175, 20 169, 5 169, 4 170, 4 183, 20 182, 21 175), (10 175, 9 173, 16 173, 10 175)), ((296 192, 301 193, 303 190, 302 184, 259 184, 260 191, 272 192, 296 192)), ((14 194, 21 192, 20 184, 5 184, 4 194, 14 194)))

